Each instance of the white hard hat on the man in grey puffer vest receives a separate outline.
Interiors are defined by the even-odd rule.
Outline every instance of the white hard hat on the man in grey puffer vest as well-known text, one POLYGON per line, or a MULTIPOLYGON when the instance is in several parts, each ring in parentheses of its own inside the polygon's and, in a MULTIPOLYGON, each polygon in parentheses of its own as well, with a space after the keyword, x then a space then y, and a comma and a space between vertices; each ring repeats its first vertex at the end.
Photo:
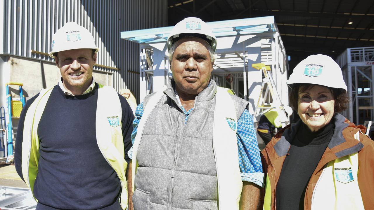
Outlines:
POLYGON ((215 52, 215 49, 217 48, 217 38, 215 38, 209 25, 200 18, 189 17, 178 22, 169 34, 167 41, 168 51, 173 43, 178 41, 180 38, 183 38, 182 34, 206 40, 212 47, 213 52, 215 52))

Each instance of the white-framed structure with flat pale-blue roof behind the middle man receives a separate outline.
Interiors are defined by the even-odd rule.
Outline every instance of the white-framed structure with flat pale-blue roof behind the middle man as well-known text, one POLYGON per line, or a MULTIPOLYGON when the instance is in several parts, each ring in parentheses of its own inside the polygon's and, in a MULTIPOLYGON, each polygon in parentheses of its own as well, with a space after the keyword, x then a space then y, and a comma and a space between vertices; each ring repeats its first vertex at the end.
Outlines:
MULTIPOLYGON (((248 100, 254 114, 263 74, 252 64, 269 65, 281 103, 288 105, 287 60, 274 16, 208 22, 217 37, 217 59, 212 79, 248 100)), ((161 90, 172 78, 165 56, 166 39, 173 27, 121 32, 121 38, 140 43, 140 102, 161 90)))

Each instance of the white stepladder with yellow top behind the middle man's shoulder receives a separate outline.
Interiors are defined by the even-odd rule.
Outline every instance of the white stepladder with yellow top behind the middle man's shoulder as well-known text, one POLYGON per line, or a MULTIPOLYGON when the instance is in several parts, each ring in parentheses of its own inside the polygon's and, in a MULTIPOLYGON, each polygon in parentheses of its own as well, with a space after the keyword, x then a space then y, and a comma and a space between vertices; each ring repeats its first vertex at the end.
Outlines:
POLYGON ((282 127, 285 127, 289 124, 288 117, 286 115, 285 111, 285 105, 282 104, 281 99, 279 97, 278 91, 276 89, 272 70, 270 66, 267 66, 263 63, 258 64, 252 64, 252 67, 261 70, 263 73, 263 79, 261 84, 261 91, 260 95, 258 96, 257 104, 254 110, 254 116, 257 118, 260 115, 263 115, 267 111, 270 111, 271 109, 275 109, 278 112, 279 120, 281 121, 282 127), (265 94, 263 95, 265 84, 267 84, 265 94), (273 101, 270 103, 270 97, 268 100, 268 103, 266 103, 266 99, 268 98, 268 94, 270 92, 270 95, 273 99, 273 101))

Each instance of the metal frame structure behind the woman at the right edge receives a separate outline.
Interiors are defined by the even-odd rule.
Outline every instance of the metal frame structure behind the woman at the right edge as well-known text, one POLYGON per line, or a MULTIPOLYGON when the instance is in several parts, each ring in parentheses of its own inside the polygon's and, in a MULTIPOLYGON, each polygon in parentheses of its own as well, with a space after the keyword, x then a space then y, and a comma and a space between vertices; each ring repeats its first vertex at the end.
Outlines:
POLYGON ((374 120, 374 47, 348 48, 336 62, 347 84, 348 109, 342 114, 351 122, 374 120))

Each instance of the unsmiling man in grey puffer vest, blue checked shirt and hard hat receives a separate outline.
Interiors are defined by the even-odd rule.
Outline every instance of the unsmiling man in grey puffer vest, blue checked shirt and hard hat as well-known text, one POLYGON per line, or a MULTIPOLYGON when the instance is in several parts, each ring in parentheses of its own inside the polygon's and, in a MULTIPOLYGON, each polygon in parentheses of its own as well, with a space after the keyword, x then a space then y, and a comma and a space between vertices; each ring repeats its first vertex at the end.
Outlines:
POLYGON ((199 18, 184 19, 169 35, 173 79, 135 111, 128 175, 135 210, 259 204, 264 175, 248 101, 211 80, 216 46, 199 18))

